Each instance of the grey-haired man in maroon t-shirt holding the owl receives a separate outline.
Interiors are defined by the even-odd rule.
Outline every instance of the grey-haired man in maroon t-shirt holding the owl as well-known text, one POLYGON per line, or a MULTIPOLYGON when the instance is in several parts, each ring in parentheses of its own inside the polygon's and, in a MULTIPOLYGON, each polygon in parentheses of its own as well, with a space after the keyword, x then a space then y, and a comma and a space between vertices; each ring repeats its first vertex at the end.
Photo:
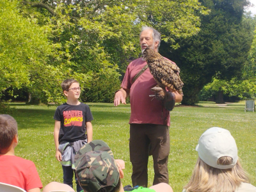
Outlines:
MULTIPOLYGON (((147 47, 156 52, 160 46, 161 34, 152 27, 142 27, 140 33, 141 51, 147 47)), ((125 72, 121 89, 115 93, 114 105, 126 104, 125 98, 130 94, 130 160, 132 163, 132 185, 148 185, 148 156, 154 160, 153 185, 168 184, 168 155, 170 153, 170 110, 175 102, 182 101, 177 91, 163 90, 152 92, 157 85, 150 71, 145 67, 143 57, 132 61, 125 72), (137 75, 137 74, 140 75, 137 75), (137 76, 137 77, 136 77, 137 76), (134 78, 135 77, 135 78, 134 78), (156 98, 152 98, 152 94, 156 98), (164 97, 163 97, 164 95, 164 97)))

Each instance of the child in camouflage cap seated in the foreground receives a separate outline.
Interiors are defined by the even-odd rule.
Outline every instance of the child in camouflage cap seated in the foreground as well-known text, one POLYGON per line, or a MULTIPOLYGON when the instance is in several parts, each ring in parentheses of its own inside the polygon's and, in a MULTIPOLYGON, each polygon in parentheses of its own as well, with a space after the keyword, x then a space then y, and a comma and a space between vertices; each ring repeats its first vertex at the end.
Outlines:
MULTIPOLYGON (((150 188, 125 186, 120 179, 124 178, 125 163, 121 159, 114 159, 113 152, 102 140, 94 140, 84 145, 75 156, 77 179, 84 192, 173 192, 166 183, 160 183, 150 188)), ((68 191, 63 184, 51 182, 45 186, 43 192, 53 189, 68 191), (59 186, 60 189, 57 189, 59 186)))

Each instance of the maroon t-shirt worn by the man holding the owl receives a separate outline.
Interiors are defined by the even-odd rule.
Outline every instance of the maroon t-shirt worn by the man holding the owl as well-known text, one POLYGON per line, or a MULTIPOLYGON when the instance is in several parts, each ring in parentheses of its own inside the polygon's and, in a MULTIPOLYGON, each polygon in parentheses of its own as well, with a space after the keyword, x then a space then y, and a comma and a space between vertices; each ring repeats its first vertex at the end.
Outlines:
POLYGON ((129 123, 164 124, 170 126, 170 113, 163 107, 163 101, 150 97, 152 87, 157 85, 149 69, 131 84, 134 76, 147 64, 141 58, 132 61, 125 72, 121 87, 130 89, 131 117, 129 123))

